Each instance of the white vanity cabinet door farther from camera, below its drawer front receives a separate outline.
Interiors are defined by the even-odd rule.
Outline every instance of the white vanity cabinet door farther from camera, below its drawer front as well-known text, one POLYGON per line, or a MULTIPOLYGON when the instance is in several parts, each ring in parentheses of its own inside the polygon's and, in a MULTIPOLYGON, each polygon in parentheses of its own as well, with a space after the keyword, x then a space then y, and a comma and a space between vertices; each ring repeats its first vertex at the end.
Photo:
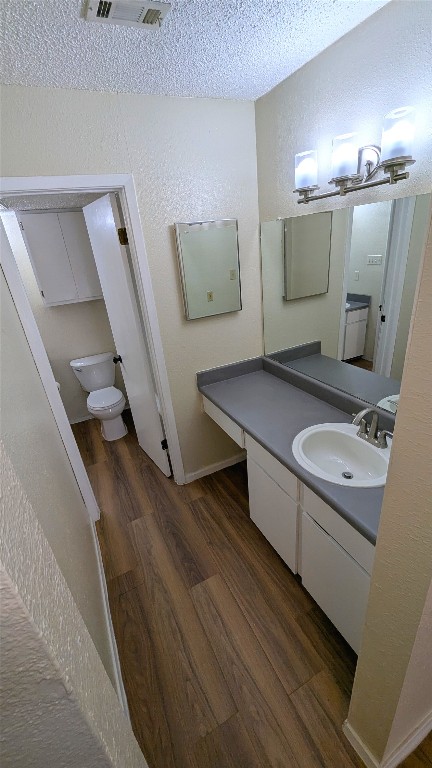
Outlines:
POLYGON ((297 573, 297 504, 249 456, 247 467, 251 520, 297 573))

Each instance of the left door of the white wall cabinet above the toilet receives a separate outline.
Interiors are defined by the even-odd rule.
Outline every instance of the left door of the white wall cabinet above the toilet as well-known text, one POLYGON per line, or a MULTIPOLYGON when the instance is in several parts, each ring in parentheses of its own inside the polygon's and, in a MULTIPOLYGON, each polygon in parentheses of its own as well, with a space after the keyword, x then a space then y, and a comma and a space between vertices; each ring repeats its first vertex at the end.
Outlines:
POLYGON ((78 291, 57 214, 26 213, 20 220, 45 303, 76 301, 78 291))

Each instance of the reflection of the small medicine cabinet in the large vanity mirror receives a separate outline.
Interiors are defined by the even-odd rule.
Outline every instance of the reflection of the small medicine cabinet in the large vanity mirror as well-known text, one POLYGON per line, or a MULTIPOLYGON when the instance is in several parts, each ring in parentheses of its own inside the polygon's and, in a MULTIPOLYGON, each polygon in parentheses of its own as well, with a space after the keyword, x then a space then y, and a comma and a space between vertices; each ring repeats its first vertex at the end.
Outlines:
POLYGON ((282 249, 286 301, 327 293, 332 214, 283 220, 282 249))

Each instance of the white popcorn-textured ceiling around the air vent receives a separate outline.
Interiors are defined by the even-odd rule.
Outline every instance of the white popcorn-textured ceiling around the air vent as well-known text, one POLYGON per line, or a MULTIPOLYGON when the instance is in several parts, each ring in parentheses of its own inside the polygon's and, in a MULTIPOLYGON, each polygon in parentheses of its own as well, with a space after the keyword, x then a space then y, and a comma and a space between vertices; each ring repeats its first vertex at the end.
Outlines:
POLYGON ((149 30, 87 22, 81 0, 0 0, 2 82, 256 99, 387 2, 172 0, 149 30))

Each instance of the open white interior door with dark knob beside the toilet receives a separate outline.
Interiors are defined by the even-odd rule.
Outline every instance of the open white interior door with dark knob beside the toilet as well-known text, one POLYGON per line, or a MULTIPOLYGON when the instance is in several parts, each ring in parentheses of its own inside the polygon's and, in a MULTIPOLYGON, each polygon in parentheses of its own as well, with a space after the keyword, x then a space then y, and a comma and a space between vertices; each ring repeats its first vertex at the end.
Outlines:
POLYGON ((126 246, 118 237, 117 204, 114 195, 105 195, 83 209, 105 305, 122 373, 138 442, 162 472, 169 476, 165 438, 156 406, 150 360, 135 300, 126 246))

